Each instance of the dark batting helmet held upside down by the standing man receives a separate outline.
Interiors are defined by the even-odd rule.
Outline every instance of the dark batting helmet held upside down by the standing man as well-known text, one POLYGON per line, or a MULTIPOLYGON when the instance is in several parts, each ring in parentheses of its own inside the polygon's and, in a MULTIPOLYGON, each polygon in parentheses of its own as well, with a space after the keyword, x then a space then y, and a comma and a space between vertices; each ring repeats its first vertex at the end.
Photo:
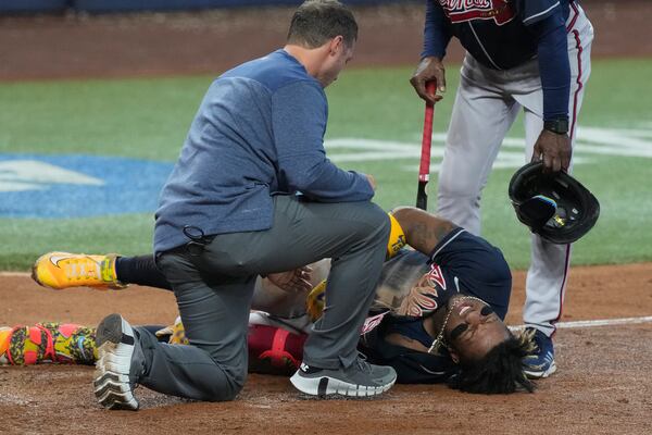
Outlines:
POLYGON ((598 199, 565 172, 543 173, 542 162, 521 167, 510 182, 518 220, 553 244, 570 244, 587 234, 600 215, 598 199))

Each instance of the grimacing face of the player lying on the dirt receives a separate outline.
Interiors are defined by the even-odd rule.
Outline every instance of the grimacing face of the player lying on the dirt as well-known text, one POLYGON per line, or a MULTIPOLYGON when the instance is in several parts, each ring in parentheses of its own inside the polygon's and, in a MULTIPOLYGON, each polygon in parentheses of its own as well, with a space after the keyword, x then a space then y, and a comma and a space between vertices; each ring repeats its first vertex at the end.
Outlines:
POLYGON ((510 337, 510 331, 491 307, 479 300, 452 306, 446 340, 462 361, 478 360, 510 337))

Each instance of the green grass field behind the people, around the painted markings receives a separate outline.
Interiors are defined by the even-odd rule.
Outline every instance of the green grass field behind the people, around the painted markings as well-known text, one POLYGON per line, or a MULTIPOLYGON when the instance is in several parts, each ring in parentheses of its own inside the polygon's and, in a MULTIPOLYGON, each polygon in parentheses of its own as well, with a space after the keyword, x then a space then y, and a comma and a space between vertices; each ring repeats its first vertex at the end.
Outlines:
MULTIPOLYGON (((411 69, 352 70, 328 89, 328 138, 421 141, 423 103, 408 79, 411 69)), ((449 65, 449 91, 437 105, 435 132, 444 132, 457 85, 449 65)), ((652 61, 593 63, 580 124, 652 128, 652 61)), ((88 153, 174 161, 212 77, 64 80, 0 84, 0 153, 88 153)), ((521 137, 519 120, 510 136, 521 137)), ((614 144, 617 145, 617 144, 614 144)), ((515 150, 512 150, 515 151, 515 150)), ((581 153, 580 153, 581 154, 581 153)), ((602 204, 595 228, 574 247, 575 264, 652 261, 650 158, 591 156, 575 174, 602 204)), ((413 204, 416 173, 398 166, 414 159, 355 162, 344 167, 374 174, 384 208, 413 204)), ((513 170, 493 171, 484 194, 485 236, 503 249, 512 268, 528 263, 527 229, 506 198, 513 170)), ((436 178, 436 177, 434 177, 436 178)), ((435 209, 436 179, 430 183, 435 209)), ((1 194, 0 194, 1 200, 1 194)), ((70 220, 0 219, 0 270, 26 270, 48 250, 149 251, 149 213, 70 220)))

